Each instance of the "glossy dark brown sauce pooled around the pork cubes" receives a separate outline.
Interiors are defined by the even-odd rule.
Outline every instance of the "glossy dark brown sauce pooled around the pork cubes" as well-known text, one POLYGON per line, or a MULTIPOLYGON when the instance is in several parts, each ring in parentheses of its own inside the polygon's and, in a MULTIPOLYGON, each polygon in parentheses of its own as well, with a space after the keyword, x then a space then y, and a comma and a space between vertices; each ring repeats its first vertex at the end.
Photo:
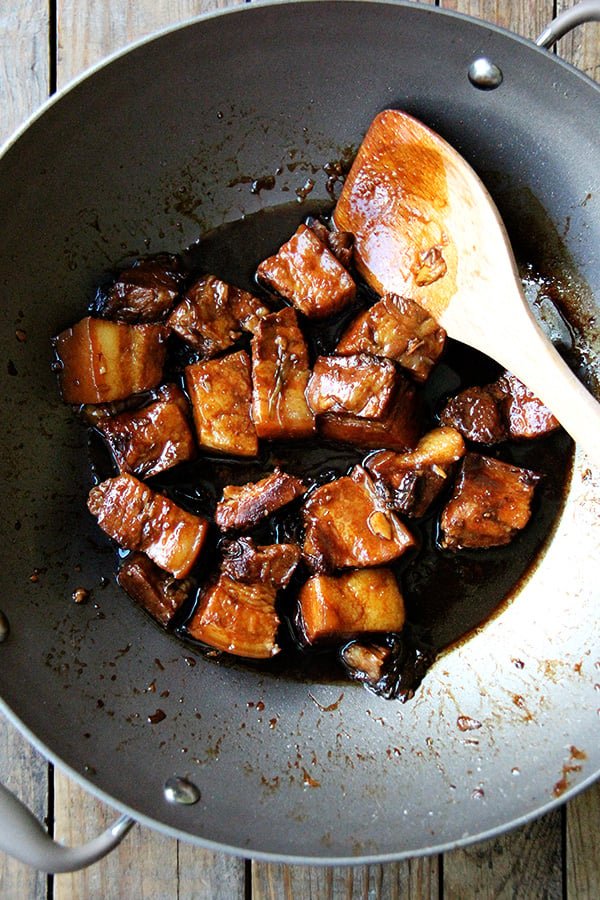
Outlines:
MULTIPOLYGON (((239 287, 260 293, 254 281, 257 264, 276 252, 308 214, 324 212, 322 206, 303 203, 271 209, 233 222, 204 236, 184 253, 186 265, 194 275, 212 273, 239 287)), ((534 273, 528 270, 528 278, 534 273)), ((372 302, 373 295, 364 288, 358 305, 372 302)), ((312 357, 333 350, 348 319, 356 315, 356 306, 326 326, 304 321, 312 357)), ((179 347, 171 357, 173 371, 168 377, 179 377, 190 361, 187 351, 179 347)), ((448 341, 443 361, 434 370, 425 387, 425 405, 429 426, 437 424, 436 412, 448 395, 475 383, 485 384, 499 374, 496 363, 455 341, 448 341)), ((572 441, 562 431, 521 445, 505 443, 498 447, 475 449, 497 455, 507 462, 542 473, 535 495, 533 515, 528 526, 507 547, 490 550, 441 551, 437 547, 437 522, 444 498, 436 508, 420 520, 409 520, 408 527, 419 538, 418 551, 407 554, 395 564, 406 604, 407 625, 402 635, 405 645, 402 657, 403 685, 411 692, 425 674, 435 656, 472 632, 498 608, 527 577, 536 558, 551 537, 560 515, 571 463, 572 441)), ((162 473, 149 483, 164 491, 185 509, 211 518, 223 487, 243 484, 269 474, 276 465, 301 476, 310 487, 339 477, 360 462, 365 452, 334 445, 320 439, 302 442, 263 442, 261 455, 252 461, 201 453, 192 463, 179 465, 162 473)), ((107 473, 102 473, 106 477, 107 473)), ((256 527, 252 536, 258 543, 275 540, 301 541, 300 501, 271 515, 256 527)), ((213 533, 212 549, 205 553, 199 571, 217 559, 218 535, 213 533)), ((310 681, 344 680, 337 652, 303 650, 294 633, 295 596, 299 583, 307 573, 302 565, 290 587, 282 592, 279 612, 284 623, 278 643, 282 652, 267 663, 240 662, 225 654, 211 651, 207 656, 229 666, 259 665, 278 677, 310 681)), ((206 577, 204 575, 204 577, 206 577)), ((199 579, 200 581, 200 579, 199 579)), ((201 587, 201 584, 200 584, 201 587)), ((175 633, 188 646, 201 650, 185 632, 185 621, 193 609, 187 608, 176 624, 175 633)))

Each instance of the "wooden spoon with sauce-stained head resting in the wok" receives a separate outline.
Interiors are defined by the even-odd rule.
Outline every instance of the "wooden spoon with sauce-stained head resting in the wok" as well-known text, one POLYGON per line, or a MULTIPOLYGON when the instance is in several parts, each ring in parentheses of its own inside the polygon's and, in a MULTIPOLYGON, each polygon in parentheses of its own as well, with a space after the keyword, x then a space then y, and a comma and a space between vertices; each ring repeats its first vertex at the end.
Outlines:
POLYGON ((406 113, 373 121, 334 211, 376 291, 412 297, 523 381, 600 465, 600 404, 537 325, 506 230, 468 163, 406 113))

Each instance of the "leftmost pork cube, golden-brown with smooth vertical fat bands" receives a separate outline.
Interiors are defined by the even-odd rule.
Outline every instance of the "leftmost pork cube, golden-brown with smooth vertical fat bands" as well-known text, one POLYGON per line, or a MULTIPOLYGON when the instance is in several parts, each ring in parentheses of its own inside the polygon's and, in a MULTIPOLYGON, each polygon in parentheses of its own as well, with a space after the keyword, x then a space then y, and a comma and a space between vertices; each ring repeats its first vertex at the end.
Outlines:
POLYGON ((156 387, 167 330, 86 316, 53 339, 67 403, 110 403, 156 387))

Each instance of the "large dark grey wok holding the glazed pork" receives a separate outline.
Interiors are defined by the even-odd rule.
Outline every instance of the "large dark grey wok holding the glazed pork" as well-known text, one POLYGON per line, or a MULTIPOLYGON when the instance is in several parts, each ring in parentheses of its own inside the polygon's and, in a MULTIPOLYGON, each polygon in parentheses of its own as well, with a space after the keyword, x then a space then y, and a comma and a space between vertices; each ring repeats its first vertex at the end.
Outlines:
POLYGON ((230 9, 116 56, 0 158, 3 709, 123 813, 246 856, 438 852, 541 814, 600 773, 600 480, 581 454, 542 557, 406 705, 191 665, 116 587, 86 511, 85 437, 57 396, 51 336, 115 260, 185 247, 295 199, 308 177, 311 198, 327 199, 322 167, 389 106, 454 144, 526 253, 562 267, 593 387, 600 89, 501 29, 402 2, 230 9), (481 58, 501 83, 469 78, 481 58), (274 186, 257 189, 265 176, 274 186), (75 605, 82 586, 91 602, 75 605), (168 801, 173 776, 197 802, 168 801))

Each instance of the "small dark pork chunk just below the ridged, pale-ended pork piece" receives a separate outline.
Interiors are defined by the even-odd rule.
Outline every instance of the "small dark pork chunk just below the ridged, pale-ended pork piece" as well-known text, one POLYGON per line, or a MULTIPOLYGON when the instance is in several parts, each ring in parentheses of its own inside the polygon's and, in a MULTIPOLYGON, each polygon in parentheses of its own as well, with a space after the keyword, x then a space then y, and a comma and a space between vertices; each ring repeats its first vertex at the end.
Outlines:
POLYGON ((117 581, 163 628, 171 626, 193 588, 191 578, 173 578, 144 553, 132 553, 124 560, 117 581))

